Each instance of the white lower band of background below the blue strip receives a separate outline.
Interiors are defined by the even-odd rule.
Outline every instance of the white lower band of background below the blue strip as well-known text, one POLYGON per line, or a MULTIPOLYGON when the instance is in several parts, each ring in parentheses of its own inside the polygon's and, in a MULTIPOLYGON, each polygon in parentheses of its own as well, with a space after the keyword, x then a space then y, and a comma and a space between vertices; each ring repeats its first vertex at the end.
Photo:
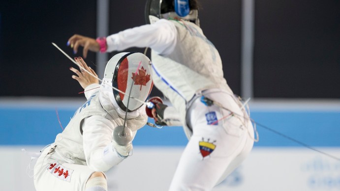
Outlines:
MULTIPOLYGON (((0 191, 34 191, 27 174, 41 147, 0 147, 0 191), (20 183, 20 184, 18 184, 20 183)), ((340 148, 318 148, 340 158, 340 148)), ((134 154, 107 172, 109 191, 166 191, 182 147, 135 147, 134 154)), ((340 161, 305 148, 254 148, 213 191, 339 191, 340 161)))

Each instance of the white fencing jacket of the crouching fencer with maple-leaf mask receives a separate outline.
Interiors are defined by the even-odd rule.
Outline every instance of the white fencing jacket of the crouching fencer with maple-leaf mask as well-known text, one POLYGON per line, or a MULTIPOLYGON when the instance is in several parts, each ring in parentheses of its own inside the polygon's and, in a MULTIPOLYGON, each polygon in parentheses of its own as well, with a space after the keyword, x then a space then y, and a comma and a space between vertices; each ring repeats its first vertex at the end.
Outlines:
MULTIPOLYGON (((87 89, 92 89, 93 85, 87 89)), ((124 116, 117 113, 104 91, 86 92, 87 101, 74 113, 64 131, 56 136, 53 158, 71 164, 88 165, 94 171, 106 171, 120 163, 121 158, 112 146, 112 132, 124 124, 124 116), (104 101, 104 102, 103 102, 104 101)), ((126 121, 133 135, 147 122, 145 108, 126 121)))

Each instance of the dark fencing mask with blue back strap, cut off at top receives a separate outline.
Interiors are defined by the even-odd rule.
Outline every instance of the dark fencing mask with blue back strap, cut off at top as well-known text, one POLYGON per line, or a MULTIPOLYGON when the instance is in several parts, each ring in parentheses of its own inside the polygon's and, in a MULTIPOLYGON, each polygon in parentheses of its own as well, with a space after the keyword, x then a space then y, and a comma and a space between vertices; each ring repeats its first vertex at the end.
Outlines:
POLYGON ((198 10, 189 8, 190 0, 147 0, 145 21, 153 24, 159 19, 181 18, 199 26, 198 10))

